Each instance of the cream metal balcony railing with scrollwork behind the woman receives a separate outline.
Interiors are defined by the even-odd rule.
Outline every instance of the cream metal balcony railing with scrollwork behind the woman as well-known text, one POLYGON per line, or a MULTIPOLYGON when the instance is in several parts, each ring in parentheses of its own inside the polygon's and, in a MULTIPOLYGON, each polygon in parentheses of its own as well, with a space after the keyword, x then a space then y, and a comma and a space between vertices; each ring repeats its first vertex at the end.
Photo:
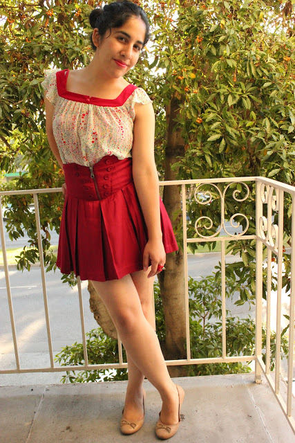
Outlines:
MULTIPOLYGON (((183 180, 183 181, 162 181, 160 186, 181 186, 182 192, 182 224, 183 224, 183 248, 184 248, 184 280, 185 280, 185 315, 186 315, 186 334, 187 334, 187 359, 182 360, 168 360, 167 365, 192 365, 200 363, 229 363, 242 361, 255 361, 255 380, 260 383, 261 373, 265 374, 269 386, 272 388, 280 407, 287 418, 290 426, 295 433, 295 421, 292 417, 292 379, 293 379, 293 361, 294 361, 294 304, 295 304, 295 242, 292 239, 295 237, 295 187, 289 186, 272 179, 265 179, 263 177, 231 177, 226 179, 203 179, 203 180, 183 180), (223 183, 225 188, 220 190, 217 185, 223 183), (232 190, 234 183, 237 183, 238 188, 232 190), (249 197, 249 185, 255 183, 256 186, 256 233, 255 235, 247 235, 249 227, 249 218, 242 213, 236 213, 231 216, 230 222, 233 224, 234 219, 239 216, 245 221, 246 227, 242 233, 230 235, 225 226, 225 199, 226 192, 232 191, 231 196, 237 202, 247 201, 249 197), (216 229, 213 235, 203 235, 200 233, 198 225, 201 221, 209 222, 207 228, 212 227, 212 220, 207 216, 199 217, 195 224, 196 236, 187 237, 187 186, 196 186, 194 192, 194 199, 199 204, 206 206, 212 201, 212 194, 208 190, 208 186, 212 186, 213 192, 220 199, 220 226, 216 229), (206 190, 201 191, 201 187, 206 186, 206 190), (242 197, 242 190, 244 190, 244 197, 242 197), (283 211, 284 211, 284 196, 285 193, 292 197, 292 236, 291 243, 291 291, 289 303, 289 356, 288 356, 288 372, 287 372, 287 404, 280 395, 280 331, 281 331, 281 295, 282 295, 282 276, 283 276, 283 211), (200 195, 206 201, 200 200, 200 195), (265 208, 265 210, 264 210, 265 208), (267 214, 267 216, 265 215, 267 214), (278 223, 274 224, 274 214, 278 217, 278 223), (218 236, 220 230, 223 228, 227 235, 218 236), (227 338, 226 338, 226 309, 225 309, 225 294, 226 294, 226 278, 225 278, 225 242, 229 240, 255 240, 256 241, 256 343, 255 355, 242 356, 227 356, 227 338), (222 282, 222 356, 204 359, 192 359, 190 347, 190 333, 189 333, 189 287, 188 287, 188 262, 187 262, 187 245, 193 242, 220 242, 221 243, 221 282, 222 282), (263 246, 267 248, 267 260, 263 262, 263 246), (272 257, 275 256, 278 264, 277 275, 277 304, 276 304, 276 364, 274 380, 270 374, 270 314, 271 314, 271 284, 272 284, 272 257), (266 363, 262 358, 262 300, 263 300, 263 266, 267 268, 267 345, 266 345, 266 363)), ((118 337, 119 346, 119 363, 90 365, 88 364, 88 355, 86 347, 86 335, 84 326, 84 311, 82 302, 82 288, 79 278, 77 279, 77 291, 79 296, 79 309, 82 327, 82 341, 84 347, 84 365, 68 365, 56 367, 54 365, 53 347, 50 332, 50 320, 48 313, 48 300, 46 292, 46 278, 45 267, 43 260, 43 250, 41 243, 41 227, 39 220, 39 206, 38 195, 42 193, 61 192, 61 188, 55 189, 38 189, 38 190, 19 190, 0 192, 0 233, 1 244, 3 252, 3 264, 6 276, 6 288, 8 295, 8 305, 10 311, 10 323, 12 327, 12 337, 15 349, 16 368, 12 370, 0 370, 2 374, 22 373, 22 372, 58 372, 66 370, 98 370, 98 369, 116 369, 127 368, 127 363, 124 363, 122 356, 122 343, 118 337), (46 316, 46 327, 48 336, 48 350, 50 355, 50 367, 48 368, 30 368, 23 369, 19 364, 19 352, 17 346, 17 332, 15 329, 15 319, 12 307, 12 295, 10 291, 10 277, 8 269, 8 260, 6 255, 6 244, 4 237, 3 226, 3 212, 1 206, 1 197, 8 195, 33 195, 35 205, 35 217, 37 226, 37 238, 39 246, 39 257, 41 267, 41 280, 44 296, 44 309, 46 316)), ((232 225, 233 226, 233 225, 232 225)), ((238 226, 236 226, 238 227, 238 226)))

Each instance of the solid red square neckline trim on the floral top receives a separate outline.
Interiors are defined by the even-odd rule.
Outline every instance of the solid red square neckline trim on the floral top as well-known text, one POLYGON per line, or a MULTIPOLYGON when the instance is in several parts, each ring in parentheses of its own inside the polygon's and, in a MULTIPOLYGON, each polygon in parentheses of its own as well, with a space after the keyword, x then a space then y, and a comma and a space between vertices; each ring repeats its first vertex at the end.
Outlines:
POLYGON ((123 89, 120 96, 113 99, 84 96, 83 94, 70 92, 66 89, 66 81, 68 80, 69 72, 69 69, 57 71, 57 93, 60 97, 66 98, 67 100, 72 100, 73 102, 89 103, 97 106, 122 106, 126 102, 127 98, 131 96, 133 91, 137 89, 135 84, 129 84, 125 89, 123 89))

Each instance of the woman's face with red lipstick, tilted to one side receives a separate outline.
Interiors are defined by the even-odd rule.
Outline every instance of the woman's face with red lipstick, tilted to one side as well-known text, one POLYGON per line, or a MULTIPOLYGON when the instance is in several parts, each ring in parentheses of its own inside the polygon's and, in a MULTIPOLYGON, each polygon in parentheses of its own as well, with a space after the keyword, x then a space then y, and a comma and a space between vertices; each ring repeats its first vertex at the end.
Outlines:
POLYGON ((93 31, 97 47, 95 57, 99 66, 115 78, 120 78, 131 69, 140 56, 146 34, 146 26, 140 17, 130 17, 120 28, 112 28, 104 37, 93 31))

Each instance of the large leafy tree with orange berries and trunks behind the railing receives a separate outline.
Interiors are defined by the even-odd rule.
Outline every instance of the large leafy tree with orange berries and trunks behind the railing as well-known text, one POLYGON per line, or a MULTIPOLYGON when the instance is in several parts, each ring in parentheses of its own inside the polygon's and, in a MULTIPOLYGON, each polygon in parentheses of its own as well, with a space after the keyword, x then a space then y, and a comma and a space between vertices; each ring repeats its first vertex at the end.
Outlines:
MULTIPOLYGON (((142 53, 129 80, 144 87, 153 99, 157 117, 156 161, 161 179, 211 177, 272 177, 294 184, 294 1, 142 1, 152 23, 152 44, 142 53)), ((0 168, 11 172, 15 159, 27 171, 5 188, 61 186, 63 176, 50 153, 44 132, 44 100, 40 83, 44 69, 79 69, 91 58, 88 13, 92 0, 0 1, 0 168)), ((99 3, 98 3, 99 4, 99 3)), ((202 188, 204 192, 207 188, 202 188)), ((223 188, 220 186, 220 190, 223 188)), ((242 192, 242 188, 240 189, 242 192)), ((189 217, 203 215, 204 206, 191 198, 189 217)), ((229 194, 226 216, 236 212, 250 218, 254 233, 255 186, 242 208, 229 194)), ((213 192, 209 216, 220 224, 220 197, 213 192)), ((167 257, 160 274, 166 324, 163 349, 166 358, 185 357, 184 288, 182 273, 181 197, 178 187, 164 190, 164 204, 180 251, 167 257), (175 313, 177 318, 175 319, 175 313)), ((30 199, 10 199, 8 230, 17 238, 26 231, 30 248, 19 256, 19 269, 38 260, 30 199)), ((59 231, 60 195, 40 197, 44 257, 48 270, 55 267, 49 228, 59 231)), ((246 222, 237 219, 242 228, 246 222)), ((215 228, 214 228, 215 226, 215 228)), ((289 232, 288 213, 285 229, 289 232)), ((196 236, 193 225, 188 235, 196 236)), ((209 248, 214 247, 209 243, 209 248)), ((192 246, 194 247, 194 246, 192 246)), ((254 242, 229 244, 242 257, 228 265, 227 275, 242 279, 242 301, 254 297, 254 242)), ((289 257, 285 256, 286 269, 289 257)), ((287 275, 285 283, 288 284, 287 275)), ((73 284, 73 275, 64 276, 73 284)), ((91 288, 89 288, 91 290, 91 288)), ((115 335, 102 302, 93 293, 91 307, 104 331, 115 335), (100 317, 100 318, 99 318, 100 317)), ((173 376, 186 368, 169 368, 173 376)))

